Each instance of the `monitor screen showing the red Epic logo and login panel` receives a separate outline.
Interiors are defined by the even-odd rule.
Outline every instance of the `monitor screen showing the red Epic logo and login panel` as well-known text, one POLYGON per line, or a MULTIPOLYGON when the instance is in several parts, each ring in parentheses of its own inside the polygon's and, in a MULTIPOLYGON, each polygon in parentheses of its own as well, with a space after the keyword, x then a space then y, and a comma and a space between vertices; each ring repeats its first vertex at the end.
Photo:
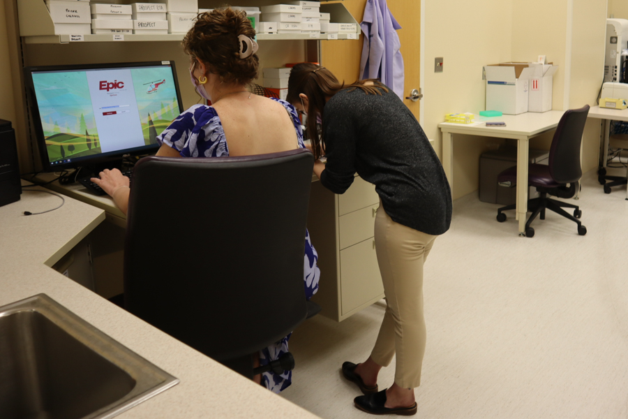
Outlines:
POLYGON ((169 66, 33 73, 50 161, 156 143, 181 110, 169 66))

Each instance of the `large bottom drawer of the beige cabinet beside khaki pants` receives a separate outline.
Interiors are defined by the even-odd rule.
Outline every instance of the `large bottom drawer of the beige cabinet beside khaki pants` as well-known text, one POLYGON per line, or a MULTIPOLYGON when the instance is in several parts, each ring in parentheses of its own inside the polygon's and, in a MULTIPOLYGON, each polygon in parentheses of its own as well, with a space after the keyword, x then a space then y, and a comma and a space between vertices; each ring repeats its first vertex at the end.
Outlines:
POLYGON ((370 238, 340 252, 342 314, 384 294, 374 242, 370 238))

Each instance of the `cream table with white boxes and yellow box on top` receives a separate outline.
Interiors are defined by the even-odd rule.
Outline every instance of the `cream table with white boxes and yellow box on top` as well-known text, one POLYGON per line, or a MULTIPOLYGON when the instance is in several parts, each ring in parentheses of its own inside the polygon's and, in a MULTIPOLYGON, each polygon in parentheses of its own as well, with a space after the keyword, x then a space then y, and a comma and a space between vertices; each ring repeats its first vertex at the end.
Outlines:
POLYGON ((442 122, 442 166, 454 190, 454 134, 479 135, 484 137, 512 138, 517 140, 517 199, 516 219, 519 221, 519 235, 525 235, 525 214, 528 212, 528 150, 530 138, 556 128, 564 111, 526 112, 520 115, 501 117, 477 117, 473 124, 451 124, 442 122), (505 122, 506 126, 486 126, 486 121, 505 122))

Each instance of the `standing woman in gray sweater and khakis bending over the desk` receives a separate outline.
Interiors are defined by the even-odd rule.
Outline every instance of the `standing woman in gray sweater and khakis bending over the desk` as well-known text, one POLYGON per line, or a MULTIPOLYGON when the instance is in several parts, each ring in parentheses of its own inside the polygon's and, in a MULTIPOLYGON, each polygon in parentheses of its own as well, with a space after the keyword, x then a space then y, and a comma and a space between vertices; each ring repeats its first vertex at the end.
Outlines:
POLYGON ((327 68, 299 64, 290 73, 287 101, 308 115, 314 171, 323 186, 344 193, 357 172, 380 196, 375 248, 387 307, 368 360, 343 363, 345 378, 364 393, 354 403, 368 413, 414 415, 426 341, 423 265, 451 223, 447 177, 412 112, 377 80, 345 87, 327 68), (394 384, 377 392, 377 374, 395 354, 394 384))

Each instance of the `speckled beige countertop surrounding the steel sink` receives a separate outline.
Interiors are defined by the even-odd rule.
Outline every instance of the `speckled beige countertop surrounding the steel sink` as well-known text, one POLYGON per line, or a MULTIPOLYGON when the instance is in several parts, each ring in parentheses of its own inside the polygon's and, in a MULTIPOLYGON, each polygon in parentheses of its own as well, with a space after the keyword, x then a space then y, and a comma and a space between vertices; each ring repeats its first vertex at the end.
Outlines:
POLYGON ((45 293, 181 380, 117 417, 317 418, 52 270, 105 219, 102 209, 65 200, 59 210, 24 216, 61 203, 50 193, 24 191, 20 201, 0 207, 0 306, 45 293))

